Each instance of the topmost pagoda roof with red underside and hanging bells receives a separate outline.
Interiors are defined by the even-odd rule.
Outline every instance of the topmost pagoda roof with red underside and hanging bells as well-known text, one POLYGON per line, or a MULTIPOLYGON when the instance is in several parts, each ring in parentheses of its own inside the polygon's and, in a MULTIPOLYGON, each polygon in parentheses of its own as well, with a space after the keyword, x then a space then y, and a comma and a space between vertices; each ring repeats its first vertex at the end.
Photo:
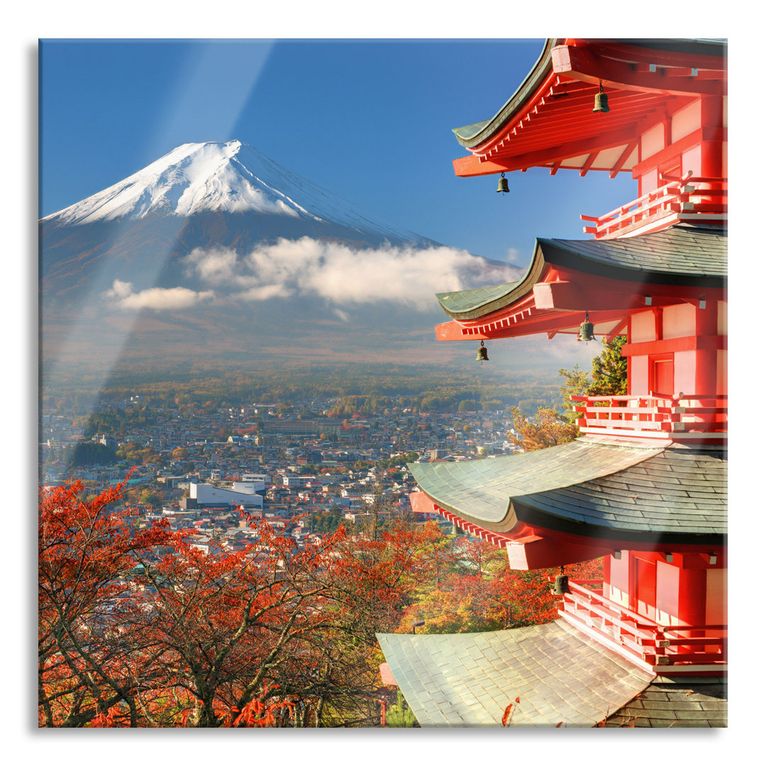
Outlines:
POLYGON ((515 93, 490 119, 453 129, 473 156, 457 175, 532 166, 630 171, 647 119, 674 113, 702 95, 725 93, 725 40, 545 41, 515 93), (611 112, 593 113, 603 84, 611 112))

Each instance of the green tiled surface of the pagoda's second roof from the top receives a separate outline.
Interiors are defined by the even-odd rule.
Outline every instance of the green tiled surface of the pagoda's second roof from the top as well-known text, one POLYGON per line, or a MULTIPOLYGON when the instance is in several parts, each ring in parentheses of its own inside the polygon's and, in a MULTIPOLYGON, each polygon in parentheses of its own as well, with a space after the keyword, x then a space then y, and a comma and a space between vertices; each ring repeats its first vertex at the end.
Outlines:
POLYGON ((538 238, 521 280, 436 297, 452 319, 478 319, 528 295, 546 265, 631 283, 722 288, 727 245, 726 228, 714 224, 675 224, 619 239, 538 238))

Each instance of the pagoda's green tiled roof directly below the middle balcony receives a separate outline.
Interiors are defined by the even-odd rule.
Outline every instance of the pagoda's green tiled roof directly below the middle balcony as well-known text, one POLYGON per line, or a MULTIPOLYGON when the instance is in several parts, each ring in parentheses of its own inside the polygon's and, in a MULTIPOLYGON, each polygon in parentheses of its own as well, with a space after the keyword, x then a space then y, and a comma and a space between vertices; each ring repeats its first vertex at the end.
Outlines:
POLYGON ((722 450, 581 437, 410 470, 437 506, 491 532, 531 526, 591 540, 721 545, 726 466, 722 450))

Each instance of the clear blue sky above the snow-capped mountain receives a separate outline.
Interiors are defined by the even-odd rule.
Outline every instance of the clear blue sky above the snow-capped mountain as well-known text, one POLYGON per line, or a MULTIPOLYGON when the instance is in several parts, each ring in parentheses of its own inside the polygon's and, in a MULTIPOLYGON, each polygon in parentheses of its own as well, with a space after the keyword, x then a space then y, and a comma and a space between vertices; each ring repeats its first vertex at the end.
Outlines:
POLYGON ((40 214, 185 142, 240 139, 376 218, 525 265, 535 236, 635 196, 630 174, 457 178, 453 128, 488 119, 542 50, 518 40, 47 40, 40 214))

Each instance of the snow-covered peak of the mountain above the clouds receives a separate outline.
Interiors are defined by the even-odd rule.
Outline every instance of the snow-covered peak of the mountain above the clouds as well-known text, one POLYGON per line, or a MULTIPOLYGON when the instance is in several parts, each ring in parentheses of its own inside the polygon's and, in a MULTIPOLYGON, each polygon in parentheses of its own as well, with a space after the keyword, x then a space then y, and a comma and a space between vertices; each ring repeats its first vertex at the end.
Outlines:
MULTIPOLYGON (((77 225, 214 211, 275 214, 381 230, 381 224, 349 203, 237 140, 182 144, 123 181, 42 221, 77 225)), ((390 233, 405 239, 414 236, 393 226, 390 233)))

